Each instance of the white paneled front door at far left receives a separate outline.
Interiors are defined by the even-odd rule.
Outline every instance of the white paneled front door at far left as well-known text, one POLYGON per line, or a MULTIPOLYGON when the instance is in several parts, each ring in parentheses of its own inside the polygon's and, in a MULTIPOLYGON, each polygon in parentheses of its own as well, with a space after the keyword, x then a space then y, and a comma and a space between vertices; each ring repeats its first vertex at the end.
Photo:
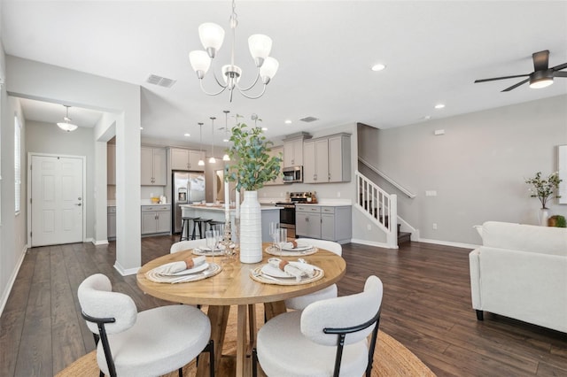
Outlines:
POLYGON ((31 245, 82 242, 83 159, 32 156, 31 245))

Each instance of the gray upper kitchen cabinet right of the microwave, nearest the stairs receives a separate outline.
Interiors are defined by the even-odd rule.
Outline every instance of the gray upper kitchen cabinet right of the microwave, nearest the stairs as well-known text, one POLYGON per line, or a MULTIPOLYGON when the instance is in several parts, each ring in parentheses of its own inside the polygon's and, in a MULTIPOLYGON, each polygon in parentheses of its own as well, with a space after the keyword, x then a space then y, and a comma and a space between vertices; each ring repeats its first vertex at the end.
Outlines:
POLYGON ((351 137, 330 135, 304 143, 304 183, 351 181, 351 137))

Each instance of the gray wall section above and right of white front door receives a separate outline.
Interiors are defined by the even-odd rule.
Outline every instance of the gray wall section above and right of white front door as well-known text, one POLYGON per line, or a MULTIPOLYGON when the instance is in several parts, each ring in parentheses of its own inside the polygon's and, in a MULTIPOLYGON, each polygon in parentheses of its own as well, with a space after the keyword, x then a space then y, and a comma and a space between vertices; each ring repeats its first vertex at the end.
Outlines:
POLYGON ((26 149, 30 153, 49 153, 86 157, 85 211, 87 234, 94 237, 95 224, 95 145, 92 128, 79 127, 74 132, 64 132, 55 124, 27 120, 26 149))

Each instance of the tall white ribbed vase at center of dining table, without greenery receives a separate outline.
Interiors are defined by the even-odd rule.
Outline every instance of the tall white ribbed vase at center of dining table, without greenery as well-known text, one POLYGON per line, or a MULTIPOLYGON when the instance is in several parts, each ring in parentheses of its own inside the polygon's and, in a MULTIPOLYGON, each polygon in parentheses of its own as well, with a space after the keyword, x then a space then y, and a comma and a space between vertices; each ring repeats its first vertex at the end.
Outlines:
POLYGON ((258 191, 245 191, 240 205, 240 261, 258 263, 262 260, 262 218, 258 191))

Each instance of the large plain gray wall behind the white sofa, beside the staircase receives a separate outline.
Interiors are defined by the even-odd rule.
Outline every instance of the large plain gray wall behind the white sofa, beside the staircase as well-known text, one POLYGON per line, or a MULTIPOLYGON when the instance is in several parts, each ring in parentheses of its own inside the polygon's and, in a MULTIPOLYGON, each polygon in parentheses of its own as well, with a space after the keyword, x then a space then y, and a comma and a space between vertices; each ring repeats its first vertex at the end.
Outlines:
MULTIPOLYGON (((472 226, 486 220, 538 223, 540 202, 524 180, 557 170, 557 146, 567 144, 567 96, 407 127, 361 127, 358 138, 362 158, 417 195, 380 183, 398 195, 400 216, 421 238, 478 244, 472 226), (434 135, 439 129, 445 135, 434 135)), ((567 216, 556 199, 550 209, 567 216)))

